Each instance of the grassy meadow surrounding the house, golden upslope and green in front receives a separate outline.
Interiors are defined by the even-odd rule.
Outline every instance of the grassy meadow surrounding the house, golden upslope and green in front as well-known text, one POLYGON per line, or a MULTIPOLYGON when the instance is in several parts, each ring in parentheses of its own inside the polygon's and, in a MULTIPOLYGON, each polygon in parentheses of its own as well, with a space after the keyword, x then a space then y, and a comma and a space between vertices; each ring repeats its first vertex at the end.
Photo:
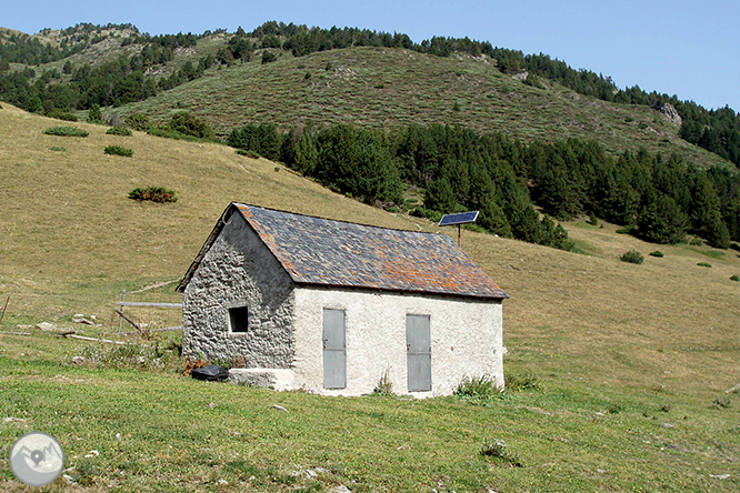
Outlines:
MULTIPOLYGON (((32 335, 0 334, 0 490, 31 491, 7 457, 32 430, 60 440, 74 482, 44 491, 740 489, 740 396, 724 392, 740 381, 737 251, 658 247, 583 222, 566 227, 587 254, 463 231, 463 250, 512 296, 509 382, 534 384, 500 398, 342 399, 201 383, 181 376, 172 333, 132 338, 113 353, 18 325, 50 321, 110 338, 121 290, 179 280, 232 200, 440 229, 226 147, 84 123, 76 125, 87 138, 42 133, 56 125, 2 103, 0 302, 11 298, 0 331, 32 335), (133 157, 104 154, 107 145, 133 157), (149 185, 178 201, 127 198, 149 185), (618 260, 631 249, 644 264, 618 260), (664 258, 649 256, 654 250, 664 258), (76 313, 103 325, 74 324, 76 313), (493 440, 521 467, 482 455, 493 440)), ((172 290, 140 299, 177 301, 172 290)))

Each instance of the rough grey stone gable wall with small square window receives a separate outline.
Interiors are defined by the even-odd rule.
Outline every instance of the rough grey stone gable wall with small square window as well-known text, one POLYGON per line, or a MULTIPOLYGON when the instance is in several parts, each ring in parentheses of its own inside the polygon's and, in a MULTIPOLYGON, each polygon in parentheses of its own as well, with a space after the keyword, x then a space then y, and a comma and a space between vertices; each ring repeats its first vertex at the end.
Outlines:
POLYGON ((232 214, 182 296, 182 350, 242 368, 293 362, 293 283, 241 214, 232 214), (229 308, 247 306, 246 332, 229 329, 229 308))

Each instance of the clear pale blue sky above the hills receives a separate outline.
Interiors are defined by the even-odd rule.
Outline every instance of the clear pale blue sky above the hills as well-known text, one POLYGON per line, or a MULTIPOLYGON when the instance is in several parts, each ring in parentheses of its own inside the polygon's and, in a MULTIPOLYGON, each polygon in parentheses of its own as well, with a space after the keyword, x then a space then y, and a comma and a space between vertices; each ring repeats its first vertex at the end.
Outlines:
POLYGON ((270 20, 402 32, 414 42, 468 37, 611 76, 621 89, 740 111, 738 0, 43 0, 0 12, 0 27, 29 34, 80 22, 132 23, 150 34, 233 32, 270 20))

